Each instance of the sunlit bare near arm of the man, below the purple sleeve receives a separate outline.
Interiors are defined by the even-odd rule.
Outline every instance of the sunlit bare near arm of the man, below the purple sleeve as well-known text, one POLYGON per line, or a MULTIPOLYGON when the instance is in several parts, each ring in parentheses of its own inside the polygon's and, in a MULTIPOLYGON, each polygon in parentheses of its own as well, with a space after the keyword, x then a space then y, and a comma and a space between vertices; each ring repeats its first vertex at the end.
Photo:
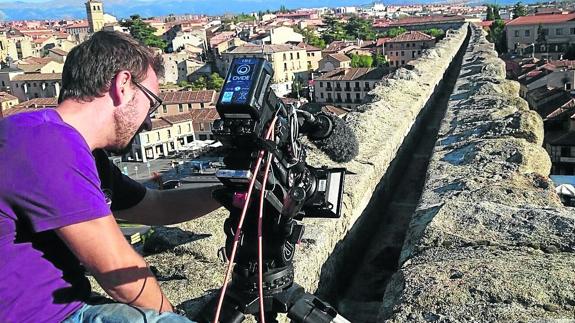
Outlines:
POLYGON ((114 300, 159 312, 173 311, 144 259, 112 215, 55 229, 114 300))

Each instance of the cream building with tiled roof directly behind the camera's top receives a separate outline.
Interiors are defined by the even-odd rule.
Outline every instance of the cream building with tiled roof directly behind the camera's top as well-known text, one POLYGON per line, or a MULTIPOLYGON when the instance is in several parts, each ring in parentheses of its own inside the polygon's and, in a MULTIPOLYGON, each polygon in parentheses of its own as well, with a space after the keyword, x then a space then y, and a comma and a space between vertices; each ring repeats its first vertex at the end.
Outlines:
POLYGON ((291 92, 295 79, 307 82, 309 78, 307 52, 293 45, 253 45, 246 44, 222 54, 228 70, 234 58, 261 57, 268 60, 274 69, 272 89, 278 96, 291 92))

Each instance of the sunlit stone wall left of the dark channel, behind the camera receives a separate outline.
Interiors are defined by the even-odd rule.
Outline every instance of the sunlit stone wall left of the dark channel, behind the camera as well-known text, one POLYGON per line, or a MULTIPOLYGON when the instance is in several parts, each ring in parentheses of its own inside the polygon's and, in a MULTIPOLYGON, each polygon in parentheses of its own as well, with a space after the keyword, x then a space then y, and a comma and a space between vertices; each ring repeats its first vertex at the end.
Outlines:
MULTIPOLYGON (((398 70, 384 86, 375 89, 373 103, 363 106, 362 112, 347 116, 346 122, 354 128, 360 142, 360 152, 343 166, 355 174, 346 176, 342 218, 304 221, 306 232, 296 251, 294 266, 296 282, 307 291, 318 288, 320 273, 329 280, 336 262, 326 260, 344 240, 389 171, 405 136, 427 107, 466 36, 467 25, 449 31, 410 69, 398 70)), ((310 150, 308 163, 340 166, 316 150, 310 150)), ((153 245, 160 247, 146 260, 162 278, 160 283, 169 299, 191 317, 221 287, 225 268, 217 251, 224 245, 222 226, 226 217, 227 213, 220 209, 194 221, 157 229, 153 237, 153 245)))

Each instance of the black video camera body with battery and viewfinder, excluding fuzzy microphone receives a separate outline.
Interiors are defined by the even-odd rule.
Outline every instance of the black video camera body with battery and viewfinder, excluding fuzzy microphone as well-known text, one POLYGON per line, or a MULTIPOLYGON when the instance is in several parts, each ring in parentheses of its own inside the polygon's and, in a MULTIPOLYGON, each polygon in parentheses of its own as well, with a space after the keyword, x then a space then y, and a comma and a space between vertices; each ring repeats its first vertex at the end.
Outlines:
POLYGON ((212 129, 228 151, 226 168, 216 173, 226 192, 215 197, 228 210, 237 208, 234 194, 247 191, 250 179, 257 175, 251 171, 257 154, 264 149, 273 153, 272 172, 265 185, 256 182, 256 190, 268 191, 266 202, 273 212, 295 219, 340 217, 345 169, 305 163, 305 146, 298 140, 304 119, 270 89, 273 75, 271 64, 263 58, 232 61, 216 105, 221 119, 212 129), (266 141, 264 131, 276 116, 274 137, 266 141))

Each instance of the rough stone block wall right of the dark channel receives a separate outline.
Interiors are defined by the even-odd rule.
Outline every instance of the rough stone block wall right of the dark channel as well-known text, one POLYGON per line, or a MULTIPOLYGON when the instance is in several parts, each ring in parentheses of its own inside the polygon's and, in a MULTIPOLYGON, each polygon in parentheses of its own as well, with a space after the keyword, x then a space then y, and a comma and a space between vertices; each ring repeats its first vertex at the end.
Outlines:
POLYGON ((548 178, 541 118, 471 29, 379 321, 571 322, 575 213, 548 178))

